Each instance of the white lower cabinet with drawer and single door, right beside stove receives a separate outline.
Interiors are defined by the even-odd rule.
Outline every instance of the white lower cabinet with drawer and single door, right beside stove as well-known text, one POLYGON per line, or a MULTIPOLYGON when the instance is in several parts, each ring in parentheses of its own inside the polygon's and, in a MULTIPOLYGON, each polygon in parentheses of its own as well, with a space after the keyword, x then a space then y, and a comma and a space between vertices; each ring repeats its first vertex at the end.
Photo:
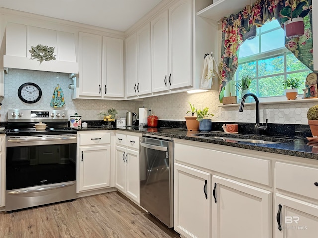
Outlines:
POLYGON ((110 187, 110 133, 78 133, 77 192, 110 187))

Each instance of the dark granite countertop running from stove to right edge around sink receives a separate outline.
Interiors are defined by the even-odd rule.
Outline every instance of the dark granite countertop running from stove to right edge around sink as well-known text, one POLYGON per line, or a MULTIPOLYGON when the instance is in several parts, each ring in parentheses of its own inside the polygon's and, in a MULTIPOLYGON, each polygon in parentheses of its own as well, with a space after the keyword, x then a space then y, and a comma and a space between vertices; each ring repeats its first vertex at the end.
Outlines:
MULTIPOLYGON (((264 151, 269 153, 297 156, 309 159, 318 160, 318 145, 312 146, 307 145, 308 140, 304 138, 280 138, 280 137, 270 137, 270 136, 261 136, 257 137, 254 135, 241 135, 235 134, 231 135, 234 137, 245 137, 249 139, 262 139, 269 141, 281 141, 278 144, 256 144, 256 143, 247 143, 247 142, 238 142, 238 141, 223 141, 222 139, 212 139, 205 136, 195 136, 194 134, 206 134, 206 133, 218 133, 219 136, 229 136, 228 134, 220 131, 211 131, 211 132, 188 132, 186 129, 178 128, 138 128, 138 127, 122 127, 122 128, 112 128, 122 131, 131 131, 135 133, 142 133, 147 135, 158 135, 164 137, 171 137, 177 139, 212 143, 218 145, 226 145, 232 147, 238 147, 249 150, 264 151)), ((87 130, 109 130, 109 128, 103 127, 88 127, 87 129, 79 129, 79 131, 87 130)))

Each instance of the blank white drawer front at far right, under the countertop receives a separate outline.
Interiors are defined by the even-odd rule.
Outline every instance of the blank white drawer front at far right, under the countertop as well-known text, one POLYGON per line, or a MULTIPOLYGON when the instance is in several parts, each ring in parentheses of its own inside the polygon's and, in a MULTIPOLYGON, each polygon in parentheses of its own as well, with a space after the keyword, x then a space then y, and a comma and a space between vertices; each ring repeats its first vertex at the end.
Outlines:
POLYGON ((318 199, 318 168, 276 162, 276 187, 309 198, 318 199))

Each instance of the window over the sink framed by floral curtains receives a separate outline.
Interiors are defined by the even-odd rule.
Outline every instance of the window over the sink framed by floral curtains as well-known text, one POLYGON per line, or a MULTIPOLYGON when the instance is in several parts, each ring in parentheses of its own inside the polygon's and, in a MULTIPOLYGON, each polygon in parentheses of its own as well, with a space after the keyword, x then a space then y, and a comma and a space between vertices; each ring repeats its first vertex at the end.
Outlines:
MULTIPOLYGON (((290 77, 303 81, 299 88, 301 94, 305 88, 306 76, 311 72, 285 47, 284 34, 278 21, 272 20, 257 28, 257 36, 246 40, 239 48, 239 66, 234 82, 239 82, 243 75, 251 74, 254 80, 250 91, 261 101, 279 101, 279 97, 285 95, 282 83, 290 77)), ((229 84, 232 94, 240 98, 241 92, 233 83, 229 84)), ((282 98, 281 100, 286 99, 282 98)))

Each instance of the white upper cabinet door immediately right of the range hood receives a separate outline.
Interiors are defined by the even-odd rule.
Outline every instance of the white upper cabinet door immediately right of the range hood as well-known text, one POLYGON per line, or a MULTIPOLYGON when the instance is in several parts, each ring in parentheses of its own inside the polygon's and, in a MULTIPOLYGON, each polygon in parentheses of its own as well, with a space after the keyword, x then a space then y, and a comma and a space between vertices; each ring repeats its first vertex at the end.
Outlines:
POLYGON ((101 96, 101 36, 79 32, 79 96, 101 96))

